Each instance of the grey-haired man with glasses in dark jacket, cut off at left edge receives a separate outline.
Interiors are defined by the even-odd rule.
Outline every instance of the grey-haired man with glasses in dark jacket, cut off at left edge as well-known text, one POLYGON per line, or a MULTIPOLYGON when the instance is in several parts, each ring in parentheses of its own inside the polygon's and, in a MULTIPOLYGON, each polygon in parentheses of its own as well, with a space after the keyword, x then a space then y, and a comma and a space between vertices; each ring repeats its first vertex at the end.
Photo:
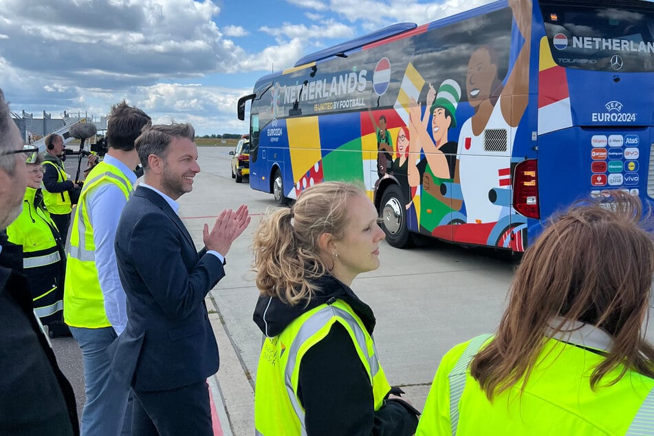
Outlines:
POLYGON ((32 308, 23 248, 5 229, 27 186, 21 133, 0 89, 0 435, 79 435, 75 395, 32 308))

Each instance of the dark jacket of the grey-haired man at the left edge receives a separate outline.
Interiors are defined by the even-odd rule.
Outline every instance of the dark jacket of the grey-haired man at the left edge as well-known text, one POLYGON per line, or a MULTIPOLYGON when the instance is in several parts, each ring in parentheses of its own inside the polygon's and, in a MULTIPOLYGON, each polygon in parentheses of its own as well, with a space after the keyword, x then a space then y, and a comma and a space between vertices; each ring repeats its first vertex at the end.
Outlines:
POLYGON ((75 394, 36 323, 23 248, 0 235, 0 435, 79 435, 75 394))

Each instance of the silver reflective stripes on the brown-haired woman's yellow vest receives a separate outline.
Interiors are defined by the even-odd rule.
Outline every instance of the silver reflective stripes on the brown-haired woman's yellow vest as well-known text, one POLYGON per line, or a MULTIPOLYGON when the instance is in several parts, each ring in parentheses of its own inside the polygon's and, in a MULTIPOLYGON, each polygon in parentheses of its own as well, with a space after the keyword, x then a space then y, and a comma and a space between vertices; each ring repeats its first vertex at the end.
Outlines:
MULTIPOLYGON (((492 335, 480 335, 472 338, 464 353, 457 360, 457 364, 448 374, 450 384, 450 426, 453 436, 457 434, 457 427, 459 426, 459 402, 466 388, 468 365, 490 336, 492 335)), ((654 436, 654 388, 645 397, 625 435, 654 436)))

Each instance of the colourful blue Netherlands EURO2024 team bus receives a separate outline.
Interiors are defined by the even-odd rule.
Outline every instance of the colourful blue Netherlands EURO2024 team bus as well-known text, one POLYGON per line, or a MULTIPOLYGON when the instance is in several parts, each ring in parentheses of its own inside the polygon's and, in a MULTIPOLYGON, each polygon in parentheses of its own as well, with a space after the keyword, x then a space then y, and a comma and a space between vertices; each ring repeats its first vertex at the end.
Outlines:
POLYGON ((358 184, 391 246, 522 252, 557 210, 654 195, 654 3, 501 0, 400 23, 264 76, 250 186, 358 184))

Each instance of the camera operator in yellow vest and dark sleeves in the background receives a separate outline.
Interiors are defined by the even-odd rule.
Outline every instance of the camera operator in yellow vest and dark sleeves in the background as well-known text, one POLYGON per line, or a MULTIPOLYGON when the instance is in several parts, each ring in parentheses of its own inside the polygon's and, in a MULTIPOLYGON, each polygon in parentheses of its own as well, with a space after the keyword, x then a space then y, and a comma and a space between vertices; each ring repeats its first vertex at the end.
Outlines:
MULTIPOLYGON (((70 212, 73 204, 77 203, 82 183, 77 180, 73 182, 63 166, 65 160, 65 145, 63 138, 56 133, 45 137, 45 158, 43 160, 43 202, 50 212, 50 217, 61 235, 61 240, 66 241, 68 225, 70 224, 70 212)), ((90 155, 87 161, 89 168, 96 166, 98 157, 90 155)))

